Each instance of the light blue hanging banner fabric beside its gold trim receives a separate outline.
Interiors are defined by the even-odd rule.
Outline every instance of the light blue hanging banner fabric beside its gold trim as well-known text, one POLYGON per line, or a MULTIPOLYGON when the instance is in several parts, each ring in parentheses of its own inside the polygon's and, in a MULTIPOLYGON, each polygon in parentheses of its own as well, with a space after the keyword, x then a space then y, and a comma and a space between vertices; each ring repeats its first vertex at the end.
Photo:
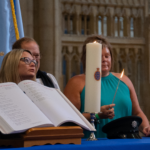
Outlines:
MULTIPOLYGON (((19 0, 14 0, 15 14, 19 30, 19 36, 24 37, 21 10, 19 0)), ((0 52, 7 54, 16 41, 15 28, 12 17, 10 0, 0 0, 0 52)), ((0 65, 4 56, 0 56, 0 65)))

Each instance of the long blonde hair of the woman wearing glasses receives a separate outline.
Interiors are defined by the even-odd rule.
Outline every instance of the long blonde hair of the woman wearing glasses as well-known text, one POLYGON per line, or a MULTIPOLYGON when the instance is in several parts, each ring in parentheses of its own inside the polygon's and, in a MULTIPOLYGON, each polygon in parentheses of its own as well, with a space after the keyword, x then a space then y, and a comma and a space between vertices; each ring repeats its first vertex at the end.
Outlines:
MULTIPOLYGON (((0 83, 15 82, 18 84, 21 81, 18 66, 22 53, 25 51, 28 52, 23 49, 13 49, 5 55, 0 69, 0 83)), ((35 79, 36 77, 34 76, 32 80, 35 81, 35 79)))

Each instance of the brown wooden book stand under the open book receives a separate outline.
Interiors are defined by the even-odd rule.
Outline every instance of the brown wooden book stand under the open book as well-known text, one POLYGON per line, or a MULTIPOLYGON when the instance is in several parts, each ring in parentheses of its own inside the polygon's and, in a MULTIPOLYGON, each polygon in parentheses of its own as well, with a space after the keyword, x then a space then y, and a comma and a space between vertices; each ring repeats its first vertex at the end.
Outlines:
POLYGON ((31 128, 25 133, 0 135, 0 146, 31 147, 45 144, 81 144, 84 136, 79 126, 31 128))

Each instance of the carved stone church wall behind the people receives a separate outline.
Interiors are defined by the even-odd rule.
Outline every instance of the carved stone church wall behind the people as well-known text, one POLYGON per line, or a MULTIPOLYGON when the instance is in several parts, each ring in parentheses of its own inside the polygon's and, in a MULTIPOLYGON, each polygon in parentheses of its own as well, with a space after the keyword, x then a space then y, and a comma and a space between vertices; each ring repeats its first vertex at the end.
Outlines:
POLYGON ((82 44, 91 34, 104 35, 113 47, 113 70, 135 86, 150 120, 149 0, 21 0, 26 36, 39 44, 41 70, 56 76, 63 91, 83 73, 82 44))

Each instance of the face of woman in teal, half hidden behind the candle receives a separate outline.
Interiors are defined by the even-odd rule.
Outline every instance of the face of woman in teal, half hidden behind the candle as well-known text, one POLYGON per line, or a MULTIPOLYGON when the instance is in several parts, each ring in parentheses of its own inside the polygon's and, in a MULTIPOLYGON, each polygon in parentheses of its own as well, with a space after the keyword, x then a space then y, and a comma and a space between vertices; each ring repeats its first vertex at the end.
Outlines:
POLYGON ((111 55, 107 47, 102 49, 102 76, 108 76, 111 69, 111 55))

